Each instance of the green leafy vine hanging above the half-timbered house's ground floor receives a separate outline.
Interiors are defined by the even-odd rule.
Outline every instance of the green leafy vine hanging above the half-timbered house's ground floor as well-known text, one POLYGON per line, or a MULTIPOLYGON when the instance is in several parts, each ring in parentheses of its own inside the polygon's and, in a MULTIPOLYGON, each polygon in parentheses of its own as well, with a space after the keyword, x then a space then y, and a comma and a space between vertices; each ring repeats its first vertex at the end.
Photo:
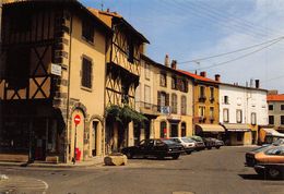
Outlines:
POLYGON ((119 107, 113 105, 106 109, 107 121, 119 122, 122 125, 127 125, 129 122, 133 121, 137 123, 142 123, 147 121, 147 118, 142 113, 131 109, 129 106, 125 105, 119 107))

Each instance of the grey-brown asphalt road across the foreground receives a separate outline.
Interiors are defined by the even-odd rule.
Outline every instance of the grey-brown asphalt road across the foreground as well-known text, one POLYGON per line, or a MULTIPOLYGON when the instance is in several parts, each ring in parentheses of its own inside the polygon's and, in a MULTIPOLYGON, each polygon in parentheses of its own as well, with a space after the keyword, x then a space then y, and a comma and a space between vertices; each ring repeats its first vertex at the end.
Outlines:
POLYGON ((284 194, 284 180, 263 180, 244 167, 251 147, 222 147, 178 160, 131 159, 125 167, 0 167, 0 193, 284 194), (9 183, 9 184, 8 184, 9 183))

